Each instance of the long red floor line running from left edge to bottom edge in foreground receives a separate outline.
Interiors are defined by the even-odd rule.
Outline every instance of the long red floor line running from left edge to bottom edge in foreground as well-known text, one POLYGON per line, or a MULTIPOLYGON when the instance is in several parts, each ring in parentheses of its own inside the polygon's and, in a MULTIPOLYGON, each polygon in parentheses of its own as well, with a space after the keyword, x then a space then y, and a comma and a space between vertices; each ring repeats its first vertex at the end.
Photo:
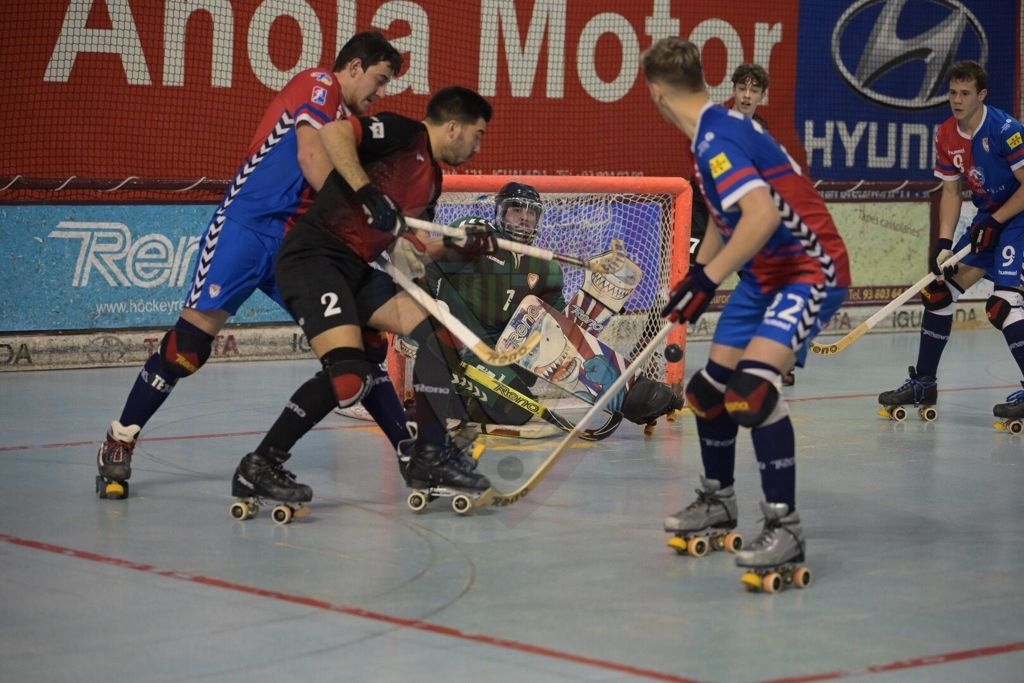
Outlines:
POLYGON ((481 645, 490 645, 493 647, 501 647, 503 649, 523 652, 525 654, 534 654, 538 656, 550 657, 552 659, 559 659, 561 661, 569 661, 572 664, 579 664, 586 667, 593 667, 595 669, 601 669, 603 671, 613 671, 623 674, 629 674, 631 676, 647 678, 653 681, 670 681, 671 683, 697 683, 693 679, 684 678, 681 676, 676 676, 674 674, 668 674, 659 671, 652 671, 650 669, 631 667, 629 665, 620 664, 617 661, 607 661, 605 659, 597 659, 594 657, 571 654, 569 652, 561 652, 559 650, 553 650, 547 647, 541 647, 540 645, 530 645, 529 643, 521 643, 515 640, 495 638, 493 636, 487 636, 483 634, 465 633, 458 629, 441 626, 439 624, 431 624, 429 622, 421 622, 419 620, 409 620, 409 618, 401 618, 399 616, 391 616, 389 614, 383 614, 380 612, 371 611, 369 609, 362 609, 360 607, 337 605, 332 602, 327 602, 326 600, 318 600, 316 598, 310 598, 303 595, 292 595, 290 593, 282 593, 280 591, 270 591, 262 588, 256 588, 255 586, 234 584, 229 581, 214 579, 212 577, 203 577, 193 573, 185 573, 181 571, 175 571, 173 569, 161 569, 152 564, 132 562, 131 560, 126 560, 119 557, 110 557, 108 555, 99 555, 97 553, 92 553, 87 550, 78 550, 75 548, 65 548, 62 546, 54 546, 52 544, 44 543, 42 541, 20 539, 17 537, 8 536, 6 533, 0 533, 0 541, 15 546, 22 546, 24 548, 41 550, 48 553, 54 553, 56 555, 63 555, 66 557, 74 557, 80 560, 89 560, 90 562, 99 562, 101 564, 109 564, 123 569, 134 569, 135 571, 143 571, 145 573, 151 573, 157 577, 164 577, 166 579, 175 579, 177 581, 185 581, 191 584, 200 584, 203 586, 210 586, 213 588, 222 588, 228 591, 234 591, 237 593, 255 595, 263 598, 269 598, 271 600, 280 600, 282 602, 290 602, 292 604, 303 605, 305 607, 312 607, 313 609, 323 609, 325 611, 347 614, 349 616, 357 616, 359 618, 372 620, 374 622, 381 622, 384 624, 389 624, 391 626, 397 626, 407 629, 416 629, 417 631, 424 631, 426 633, 430 633, 437 636, 444 636, 446 638, 457 638, 459 640, 479 643, 481 645))

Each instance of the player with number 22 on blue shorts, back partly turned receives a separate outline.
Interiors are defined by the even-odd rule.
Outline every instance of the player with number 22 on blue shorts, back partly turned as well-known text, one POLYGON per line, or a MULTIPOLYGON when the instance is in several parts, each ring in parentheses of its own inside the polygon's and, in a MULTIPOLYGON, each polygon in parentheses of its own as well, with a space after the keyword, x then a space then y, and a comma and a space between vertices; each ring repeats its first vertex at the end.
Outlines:
POLYGON ((765 495, 761 535, 737 554, 743 566, 800 561, 793 423, 782 373, 802 365, 810 340, 846 298, 849 258, 821 197, 756 121, 712 103, 698 48, 657 41, 643 56, 651 98, 691 141, 713 222, 663 314, 693 323, 719 284, 739 283, 722 311, 708 364, 686 387, 705 476, 697 500, 666 519, 685 538, 736 525, 736 435, 751 429, 765 495))

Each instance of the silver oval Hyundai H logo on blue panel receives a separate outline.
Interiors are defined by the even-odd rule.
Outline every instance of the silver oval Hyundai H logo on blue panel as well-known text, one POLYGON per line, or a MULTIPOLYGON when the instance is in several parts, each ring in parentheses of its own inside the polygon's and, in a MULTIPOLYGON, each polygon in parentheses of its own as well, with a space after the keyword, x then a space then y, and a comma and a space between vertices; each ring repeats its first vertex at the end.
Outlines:
POLYGON ((956 0, 859 0, 836 23, 831 53, 863 96, 923 110, 946 101, 946 72, 954 61, 987 62, 988 38, 956 0))

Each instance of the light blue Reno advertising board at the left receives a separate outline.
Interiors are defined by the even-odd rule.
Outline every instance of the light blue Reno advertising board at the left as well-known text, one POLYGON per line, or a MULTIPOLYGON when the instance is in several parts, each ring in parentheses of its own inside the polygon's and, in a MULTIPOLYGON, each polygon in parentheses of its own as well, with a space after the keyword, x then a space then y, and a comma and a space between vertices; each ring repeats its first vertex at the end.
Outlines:
MULTIPOLYGON (((207 205, 0 209, 0 332, 173 324, 212 212, 207 205)), ((232 321, 290 318, 258 293, 232 321)))

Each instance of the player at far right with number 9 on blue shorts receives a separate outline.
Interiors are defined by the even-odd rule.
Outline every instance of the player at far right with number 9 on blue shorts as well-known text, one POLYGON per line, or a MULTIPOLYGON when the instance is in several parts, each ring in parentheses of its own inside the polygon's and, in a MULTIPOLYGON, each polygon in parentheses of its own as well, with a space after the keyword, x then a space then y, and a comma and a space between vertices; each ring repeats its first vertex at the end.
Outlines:
MULTIPOLYGON (((942 180, 939 239, 932 253, 932 272, 939 275, 922 291, 918 365, 899 388, 879 395, 883 405, 934 405, 936 375, 953 327, 956 300, 982 278, 992 282, 985 302, 989 322, 1002 332, 1010 352, 1024 374, 1024 126, 1013 116, 985 104, 988 77, 976 61, 959 61, 949 70, 952 116, 935 136, 935 176, 942 180), (970 229, 955 245, 962 183, 978 209, 970 229), (971 253, 945 272, 939 265, 971 244, 971 253)), ((998 418, 1024 418, 1024 391, 996 404, 998 418)))

